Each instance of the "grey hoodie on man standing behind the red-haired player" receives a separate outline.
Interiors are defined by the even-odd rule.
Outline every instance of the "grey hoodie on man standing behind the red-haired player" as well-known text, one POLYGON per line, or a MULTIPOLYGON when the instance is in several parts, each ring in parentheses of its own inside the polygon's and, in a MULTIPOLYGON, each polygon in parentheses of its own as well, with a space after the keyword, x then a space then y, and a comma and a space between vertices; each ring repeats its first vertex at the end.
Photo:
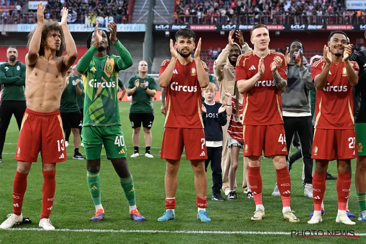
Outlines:
POLYGON ((315 88, 311 80, 310 64, 303 57, 303 66, 299 68, 296 63, 287 65, 287 88, 281 94, 282 109, 286 112, 309 112, 310 95, 309 91, 315 88))

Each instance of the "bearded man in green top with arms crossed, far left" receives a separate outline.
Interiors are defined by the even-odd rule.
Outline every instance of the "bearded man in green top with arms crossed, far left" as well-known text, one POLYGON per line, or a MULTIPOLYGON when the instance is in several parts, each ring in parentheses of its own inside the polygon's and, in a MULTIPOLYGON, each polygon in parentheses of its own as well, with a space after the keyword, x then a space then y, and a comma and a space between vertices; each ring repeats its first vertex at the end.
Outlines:
POLYGON ((24 94, 26 65, 20 63, 18 49, 16 46, 9 46, 6 55, 8 61, 0 65, 0 163, 3 152, 5 134, 10 124, 11 116, 14 114, 16 123, 20 130, 22 118, 27 108, 24 94))

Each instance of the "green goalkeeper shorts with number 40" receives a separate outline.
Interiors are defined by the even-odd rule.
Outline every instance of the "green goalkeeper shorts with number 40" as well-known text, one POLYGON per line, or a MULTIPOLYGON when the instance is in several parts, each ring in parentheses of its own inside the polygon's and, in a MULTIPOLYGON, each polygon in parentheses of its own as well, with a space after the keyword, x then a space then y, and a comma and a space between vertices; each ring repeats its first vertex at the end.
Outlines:
POLYGON ((98 159, 104 144, 107 159, 126 158, 127 150, 120 125, 85 126, 81 131, 86 159, 98 159))

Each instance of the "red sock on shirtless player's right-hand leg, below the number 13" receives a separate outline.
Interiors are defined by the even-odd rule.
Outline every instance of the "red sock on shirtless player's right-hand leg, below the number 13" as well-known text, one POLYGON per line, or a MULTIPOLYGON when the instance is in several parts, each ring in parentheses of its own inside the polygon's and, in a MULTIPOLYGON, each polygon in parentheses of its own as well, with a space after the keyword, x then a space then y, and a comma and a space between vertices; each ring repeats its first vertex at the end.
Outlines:
POLYGON ((51 214, 53 200, 55 199, 56 190, 56 170, 43 170, 43 187, 42 187, 42 214, 41 219, 49 218, 51 214))

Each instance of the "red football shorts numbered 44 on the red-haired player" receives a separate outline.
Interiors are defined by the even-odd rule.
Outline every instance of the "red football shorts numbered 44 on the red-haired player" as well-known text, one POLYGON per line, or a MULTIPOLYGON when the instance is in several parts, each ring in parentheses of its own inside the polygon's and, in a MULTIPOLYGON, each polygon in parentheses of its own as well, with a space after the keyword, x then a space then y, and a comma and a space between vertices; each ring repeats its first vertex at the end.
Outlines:
POLYGON ((283 124, 243 125, 243 156, 287 155, 283 124))

